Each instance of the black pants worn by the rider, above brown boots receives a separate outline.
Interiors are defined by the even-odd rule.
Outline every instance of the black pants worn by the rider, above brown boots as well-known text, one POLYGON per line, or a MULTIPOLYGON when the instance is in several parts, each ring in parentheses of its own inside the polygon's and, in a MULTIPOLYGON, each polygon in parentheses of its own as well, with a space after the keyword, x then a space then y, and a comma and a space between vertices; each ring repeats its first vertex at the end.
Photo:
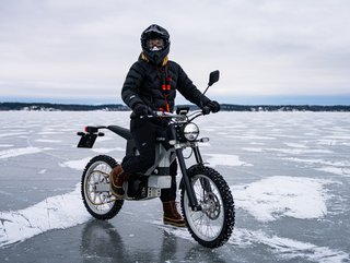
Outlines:
MULTIPOLYGON (((131 119, 130 132, 140 155, 132 157, 126 156, 124 158, 121 166, 127 174, 145 172, 154 164, 155 138, 158 131, 161 129, 165 129, 165 125, 162 124, 162 122, 154 123, 145 118, 131 119)), ((170 167, 170 175, 172 177, 172 187, 170 189, 162 189, 162 202, 175 201, 176 199, 176 160, 174 160, 170 167)))

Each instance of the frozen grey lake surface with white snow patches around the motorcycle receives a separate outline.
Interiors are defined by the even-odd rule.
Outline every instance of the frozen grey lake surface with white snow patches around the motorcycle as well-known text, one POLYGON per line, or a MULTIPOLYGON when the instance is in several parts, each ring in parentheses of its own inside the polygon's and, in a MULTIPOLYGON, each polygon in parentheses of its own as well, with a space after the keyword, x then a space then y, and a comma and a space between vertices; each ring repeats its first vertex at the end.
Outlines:
POLYGON ((236 207, 233 235, 215 250, 164 227, 159 200, 126 202, 108 222, 88 214, 85 164, 100 154, 120 160, 125 142, 106 132, 82 150, 75 133, 128 123, 129 112, 1 112, 0 262, 350 262, 350 113, 198 119, 210 138, 203 158, 236 207))

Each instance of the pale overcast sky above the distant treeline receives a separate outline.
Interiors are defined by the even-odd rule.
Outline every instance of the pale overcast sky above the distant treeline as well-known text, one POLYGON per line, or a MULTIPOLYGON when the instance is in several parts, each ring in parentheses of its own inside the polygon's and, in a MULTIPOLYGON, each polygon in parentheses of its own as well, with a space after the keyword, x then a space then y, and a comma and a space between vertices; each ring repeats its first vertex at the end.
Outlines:
POLYGON ((349 105, 349 0, 1 0, 0 101, 121 103, 156 23, 198 88, 220 70, 220 103, 349 105))

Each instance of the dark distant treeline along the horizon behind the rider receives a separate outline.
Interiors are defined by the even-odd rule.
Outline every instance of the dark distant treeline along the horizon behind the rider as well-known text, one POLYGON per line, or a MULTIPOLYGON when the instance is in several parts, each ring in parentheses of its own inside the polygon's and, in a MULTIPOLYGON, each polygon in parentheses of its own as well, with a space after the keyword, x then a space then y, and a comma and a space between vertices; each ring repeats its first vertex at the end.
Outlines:
MULTIPOLYGON (((187 105, 190 109, 197 106, 187 105)), ((224 111, 350 111, 350 106, 335 105, 233 105, 222 104, 221 109, 224 111)), ((129 110, 121 104, 105 105, 79 105, 79 104, 48 104, 48 103, 0 103, 0 111, 4 110, 36 110, 36 111, 89 111, 105 110, 119 111, 129 110)))

